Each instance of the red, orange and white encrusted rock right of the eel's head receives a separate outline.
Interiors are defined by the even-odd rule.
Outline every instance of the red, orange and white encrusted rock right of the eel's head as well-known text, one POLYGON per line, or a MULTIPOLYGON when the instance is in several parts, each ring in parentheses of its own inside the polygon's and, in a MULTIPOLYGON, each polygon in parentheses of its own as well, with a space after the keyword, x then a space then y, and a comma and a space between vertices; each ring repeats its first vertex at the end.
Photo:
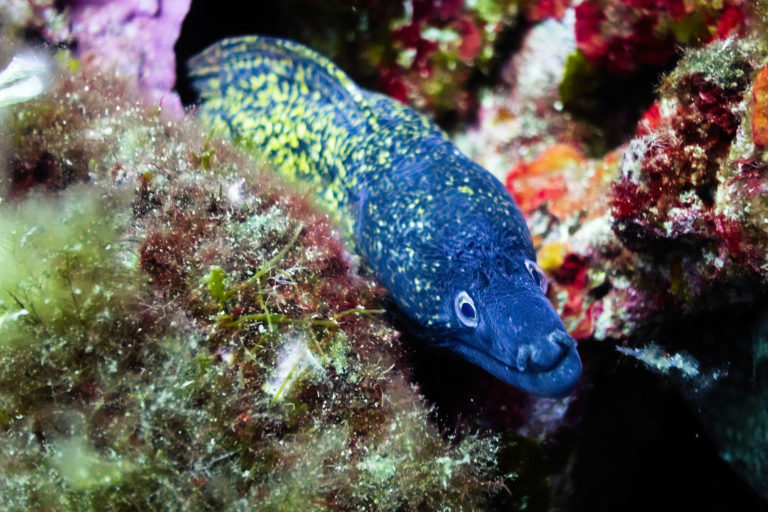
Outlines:
POLYGON ((590 129, 561 108, 573 93, 563 87, 573 54, 537 42, 538 31, 563 40, 575 32, 578 44, 575 11, 575 23, 566 14, 531 31, 508 67, 512 88, 489 96, 478 128, 459 142, 505 179, 528 216, 550 296, 575 336, 624 338, 656 314, 712 307, 713 290, 764 274, 764 49, 730 38, 690 51, 634 138, 595 157, 590 129), (525 64, 536 59, 550 64, 529 79, 525 64))

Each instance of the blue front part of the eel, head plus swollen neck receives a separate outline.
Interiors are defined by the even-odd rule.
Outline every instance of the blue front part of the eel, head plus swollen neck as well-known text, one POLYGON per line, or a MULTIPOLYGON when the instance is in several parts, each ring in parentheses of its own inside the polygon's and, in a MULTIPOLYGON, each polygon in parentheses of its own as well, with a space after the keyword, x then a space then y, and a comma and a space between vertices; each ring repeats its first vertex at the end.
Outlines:
POLYGON ((360 252, 421 339, 523 391, 567 395, 581 360, 545 295, 546 276, 514 200, 444 138, 417 142, 387 170, 396 186, 376 186, 378 175, 360 185, 365 192, 352 208, 360 252), (473 193, 446 186, 446 175, 470 184, 473 193), (419 203, 429 205, 421 215, 403 207, 419 203), (409 229, 414 220, 418 227, 409 229), (431 286, 424 289, 416 278, 431 286))

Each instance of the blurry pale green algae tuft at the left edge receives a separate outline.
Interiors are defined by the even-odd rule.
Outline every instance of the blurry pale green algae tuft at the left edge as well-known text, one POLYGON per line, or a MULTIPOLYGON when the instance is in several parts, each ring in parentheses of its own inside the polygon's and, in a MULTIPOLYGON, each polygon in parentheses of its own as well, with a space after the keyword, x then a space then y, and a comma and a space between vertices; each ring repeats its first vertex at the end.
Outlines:
POLYGON ((2 417, 29 414, 117 364, 119 352, 102 351, 120 344, 136 293, 117 258, 120 203, 73 188, 0 213, 2 417))

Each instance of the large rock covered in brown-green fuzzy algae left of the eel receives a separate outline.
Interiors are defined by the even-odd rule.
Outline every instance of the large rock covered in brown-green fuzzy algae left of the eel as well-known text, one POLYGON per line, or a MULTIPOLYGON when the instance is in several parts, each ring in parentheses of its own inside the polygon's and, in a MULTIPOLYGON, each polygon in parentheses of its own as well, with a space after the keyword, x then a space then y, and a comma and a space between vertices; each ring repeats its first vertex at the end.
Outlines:
MULTIPOLYGON (((67 62, 67 59, 62 59, 67 62)), ((87 66, 3 112, 5 510, 477 510, 309 200, 87 66)))

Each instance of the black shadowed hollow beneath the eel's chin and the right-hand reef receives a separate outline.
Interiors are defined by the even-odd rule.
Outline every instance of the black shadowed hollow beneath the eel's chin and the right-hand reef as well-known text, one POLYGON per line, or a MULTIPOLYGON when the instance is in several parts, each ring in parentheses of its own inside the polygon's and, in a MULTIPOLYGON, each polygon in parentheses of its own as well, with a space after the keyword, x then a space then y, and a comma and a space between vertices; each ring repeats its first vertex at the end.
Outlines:
MULTIPOLYGON (((759 311, 755 305, 736 305, 690 315, 649 328, 643 339, 670 351, 698 344, 699 350, 686 352, 697 353, 703 370, 728 361, 738 380, 751 367, 751 354, 735 340, 750 339, 759 311)), ((500 463, 519 479, 508 482, 511 495, 497 495, 494 510, 519 508, 520 495, 530 500, 529 510, 548 510, 553 500, 572 512, 768 509, 711 440, 708 416, 697 412, 697 397, 705 395, 696 395, 674 371, 660 376, 612 344, 584 343, 582 396, 563 427, 536 444, 508 433, 525 421, 528 396, 445 350, 409 335, 404 342, 414 381, 435 405, 446 434, 461 423, 502 434, 500 463), (564 471, 570 482, 550 488, 548 478, 564 471)))

